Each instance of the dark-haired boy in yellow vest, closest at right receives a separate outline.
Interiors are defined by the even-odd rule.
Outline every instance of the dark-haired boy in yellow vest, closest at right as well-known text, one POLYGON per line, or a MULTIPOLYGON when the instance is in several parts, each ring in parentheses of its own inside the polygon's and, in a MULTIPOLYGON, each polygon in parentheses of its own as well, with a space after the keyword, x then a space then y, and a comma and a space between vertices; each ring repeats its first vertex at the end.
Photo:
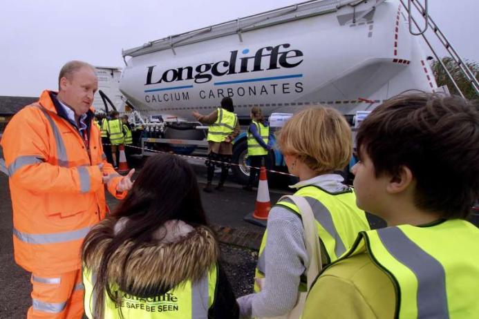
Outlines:
POLYGON ((303 319, 479 318, 479 112, 461 97, 388 99, 357 132, 361 231, 312 284, 303 319))

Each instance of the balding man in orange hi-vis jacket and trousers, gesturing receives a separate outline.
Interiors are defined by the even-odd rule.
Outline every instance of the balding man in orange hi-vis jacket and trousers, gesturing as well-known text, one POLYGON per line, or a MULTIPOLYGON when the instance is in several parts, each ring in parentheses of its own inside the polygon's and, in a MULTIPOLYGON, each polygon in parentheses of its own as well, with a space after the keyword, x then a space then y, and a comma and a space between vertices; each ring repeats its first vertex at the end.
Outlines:
POLYGON ((71 61, 59 92, 15 115, 1 139, 13 209, 15 262, 32 273, 27 318, 82 318, 80 246, 106 214, 104 186, 122 198, 131 175, 107 163, 92 123, 95 69, 71 61))

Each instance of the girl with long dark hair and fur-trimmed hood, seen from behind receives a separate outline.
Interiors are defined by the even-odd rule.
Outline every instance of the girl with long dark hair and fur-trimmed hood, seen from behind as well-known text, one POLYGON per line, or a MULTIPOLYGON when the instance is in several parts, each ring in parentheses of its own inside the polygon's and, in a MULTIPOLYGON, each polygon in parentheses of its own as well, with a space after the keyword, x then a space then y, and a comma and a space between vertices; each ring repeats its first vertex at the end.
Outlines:
POLYGON ((238 318, 196 176, 176 155, 147 160, 82 258, 88 318, 238 318))

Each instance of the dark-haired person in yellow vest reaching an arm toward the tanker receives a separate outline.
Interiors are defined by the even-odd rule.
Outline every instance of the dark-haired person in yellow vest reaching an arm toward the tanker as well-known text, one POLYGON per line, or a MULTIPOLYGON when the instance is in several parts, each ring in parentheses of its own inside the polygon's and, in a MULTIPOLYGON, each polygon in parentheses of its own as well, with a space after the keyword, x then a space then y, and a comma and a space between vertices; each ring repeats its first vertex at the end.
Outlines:
POLYGON ((231 97, 224 97, 221 100, 221 107, 214 110, 209 115, 200 115, 194 111, 193 116, 203 124, 208 124, 208 159, 205 162, 207 166, 207 184, 203 191, 212 192, 212 182, 214 175, 214 166, 221 168, 220 182, 216 189, 223 189, 226 177, 228 177, 229 163, 233 155, 233 139, 241 131, 238 123, 238 117, 234 112, 233 100, 231 97))

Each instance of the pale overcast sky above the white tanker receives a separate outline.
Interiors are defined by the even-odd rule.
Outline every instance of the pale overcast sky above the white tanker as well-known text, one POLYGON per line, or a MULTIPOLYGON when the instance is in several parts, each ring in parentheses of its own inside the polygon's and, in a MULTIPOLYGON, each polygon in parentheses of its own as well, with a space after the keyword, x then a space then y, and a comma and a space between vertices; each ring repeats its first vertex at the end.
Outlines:
MULTIPOLYGON (((424 1, 424 0, 420 0, 424 1)), ((301 0, 2 0, 0 95, 57 89, 66 61, 124 66, 122 48, 299 3, 301 0)), ((460 55, 479 61, 477 0, 429 0, 460 55)))

